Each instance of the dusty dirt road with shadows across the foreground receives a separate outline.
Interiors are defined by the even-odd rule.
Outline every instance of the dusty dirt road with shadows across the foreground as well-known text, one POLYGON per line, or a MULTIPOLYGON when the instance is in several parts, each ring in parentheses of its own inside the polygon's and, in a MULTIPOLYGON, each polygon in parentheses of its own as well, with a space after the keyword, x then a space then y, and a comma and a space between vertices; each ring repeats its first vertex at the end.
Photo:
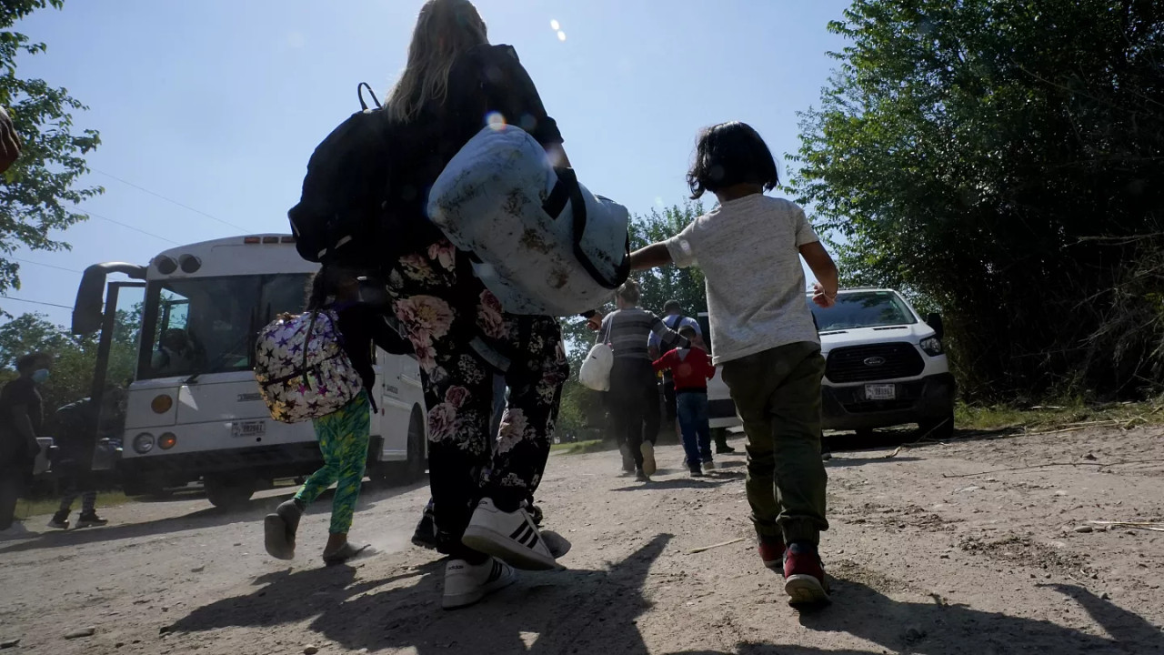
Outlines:
POLYGON ((263 552, 261 517, 284 491, 232 514, 132 503, 107 528, 0 542, 0 642, 62 655, 1164 653, 1164 531, 1088 522, 1164 521, 1162 435, 838 451, 823 545, 835 603, 816 613, 790 610, 754 555, 744 458, 691 480, 667 446, 669 472, 648 486, 615 477, 613 452, 554 456, 539 501, 574 542, 569 570, 524 573, 473 608, 441 611, 442 568, 407 543, 425 488, 367 492, 353 536, 378 552, 333 569, 318 559, 324 502, 292 565, 263 552))

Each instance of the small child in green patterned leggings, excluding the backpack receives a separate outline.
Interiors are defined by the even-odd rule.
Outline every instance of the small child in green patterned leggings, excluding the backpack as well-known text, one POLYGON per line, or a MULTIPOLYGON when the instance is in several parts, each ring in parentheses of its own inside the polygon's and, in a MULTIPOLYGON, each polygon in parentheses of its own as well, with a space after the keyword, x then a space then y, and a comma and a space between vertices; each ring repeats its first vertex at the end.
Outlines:
POLYGON ((368 462, 370 414, 376 411, 371 392, 376 386, 372 368, 372 344, 396 351, 399 336, 384 317, 360 302, 357 273, 340 266, 325 265, 312 279, 307 311, 333 311, 343 338, 343 352, 360 373, 363 390, 339 410, 313 421, 324 467, 315 471, 294 498, 281 503, 263 522, 267 552, 278 559, 294 557, 296 533, 307 505, 327 487, 338 483, 332 500, 332 523, 324 563, 340 564, 359 555, 364 547, 348 542, 360 486, 368 462))

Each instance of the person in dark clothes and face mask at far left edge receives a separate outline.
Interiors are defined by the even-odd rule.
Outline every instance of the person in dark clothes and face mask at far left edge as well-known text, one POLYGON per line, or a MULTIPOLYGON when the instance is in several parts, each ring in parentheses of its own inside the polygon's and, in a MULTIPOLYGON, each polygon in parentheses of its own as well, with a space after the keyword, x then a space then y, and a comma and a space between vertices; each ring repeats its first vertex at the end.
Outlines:
POLYGON ((52 357, 26 354, 16 360, 20 378, 0 392, 0 530, 12 526, 16 500, 33 477, 33 465, 41 452, 44 410, 37 387, 49 379, 52 357))

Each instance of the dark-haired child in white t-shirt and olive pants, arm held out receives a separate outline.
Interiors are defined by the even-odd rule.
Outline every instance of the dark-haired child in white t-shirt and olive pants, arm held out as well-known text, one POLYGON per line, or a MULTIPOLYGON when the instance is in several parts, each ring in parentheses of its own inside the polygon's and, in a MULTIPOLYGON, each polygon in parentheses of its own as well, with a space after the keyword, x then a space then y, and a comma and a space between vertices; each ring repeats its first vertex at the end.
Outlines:
POLYGON ((817 551, 828 477, 821 460, 824 358, 804 304, 832 307, 837 267, 795 203, 765 191, 780 179, 764 139, 741 122, 703 131, 687 176, 691 197, 719 206, 677 235, 631 255, 631 267, 698 265, 707 279, 715 364, 747 432, 747 500, 765 565, 781 570, 793 605, 829 600, 817 551))

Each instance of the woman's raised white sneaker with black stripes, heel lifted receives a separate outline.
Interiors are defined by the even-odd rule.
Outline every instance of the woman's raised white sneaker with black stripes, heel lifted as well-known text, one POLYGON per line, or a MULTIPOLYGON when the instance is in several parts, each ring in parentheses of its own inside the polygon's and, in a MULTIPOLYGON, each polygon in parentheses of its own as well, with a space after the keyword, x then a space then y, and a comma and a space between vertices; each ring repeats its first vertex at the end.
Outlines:
POLYGON ((565 568, 554 561, 538 526, 525 509, 502 512, 490 498, 483 498, 477 503, 461 543, 517 569, 549 571, 565 568))

